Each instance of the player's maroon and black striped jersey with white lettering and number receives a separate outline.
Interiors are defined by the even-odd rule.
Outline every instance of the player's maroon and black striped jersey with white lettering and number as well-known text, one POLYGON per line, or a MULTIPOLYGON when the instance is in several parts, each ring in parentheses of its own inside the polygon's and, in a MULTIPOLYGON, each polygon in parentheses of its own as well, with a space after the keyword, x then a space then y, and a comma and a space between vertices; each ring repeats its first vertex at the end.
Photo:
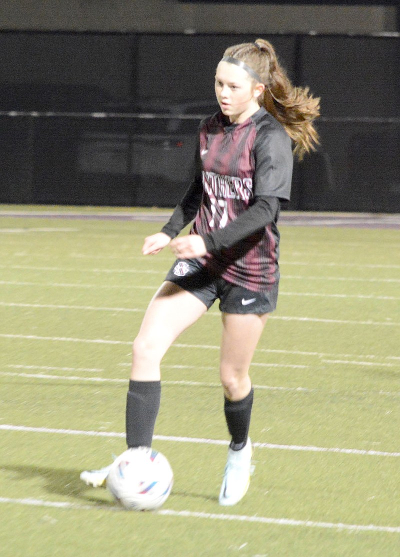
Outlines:
POLYGON ((196 216, 191 233, 214 247, 201 263, 233 284, 269 290, 279 280, 277 200, 290 199, 292 164, 291 140, 264 108, 241 124, 221 112, 203 120, 193 182, 163 232, 174 237, 196 216))

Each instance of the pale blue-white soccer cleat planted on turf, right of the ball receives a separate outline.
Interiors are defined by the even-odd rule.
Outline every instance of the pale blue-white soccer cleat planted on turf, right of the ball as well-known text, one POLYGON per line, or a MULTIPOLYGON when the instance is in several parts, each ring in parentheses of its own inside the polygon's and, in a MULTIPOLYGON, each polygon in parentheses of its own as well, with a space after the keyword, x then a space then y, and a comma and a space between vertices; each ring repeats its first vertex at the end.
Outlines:
POLYGON ((252 453, 250 438, 240 451, 228 449, 228 459, 219 493, 219 505, 236 505, 246 495, 252 473, 252 453))

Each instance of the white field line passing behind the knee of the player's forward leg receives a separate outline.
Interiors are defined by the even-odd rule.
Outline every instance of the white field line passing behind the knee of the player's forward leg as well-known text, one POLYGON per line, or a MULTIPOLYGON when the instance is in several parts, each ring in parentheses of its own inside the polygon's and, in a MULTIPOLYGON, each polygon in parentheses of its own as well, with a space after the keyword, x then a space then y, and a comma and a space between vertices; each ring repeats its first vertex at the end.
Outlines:
MULTIPOLYGON (((87 343, 87 344, 111 344, 111 345, 123 345, 131 346, 131 341, 125 340, 108 340, 108 339, 78 339, 73 337, 60 337, 60 336, 37 336, 37 335, 12 335, 12 334, 0 334, 0 338, 9 339, 27 339, 27 340, 50 340, 53 342, 71 342, 71 343, 87 343)), ((196 348, 205 350, 219 350, 220 346, 212 344, 183 344, 174 343, 172 348, 196 348)), ((318 358, 334 358, 335 356, 340 356, 341 358, 363 358, 363 359, 377 359, 379 356, 373 354, 359 355, 359 354, 330 354, 326 352, 311 352, 305 350, 277 350, 270 348, 256 348, 256 352, 268 353, 268 354, 295 354, 300 356, 316 356, 318 358)), ((384 360, 400 360, 400 356, 381 356, 384 360)))

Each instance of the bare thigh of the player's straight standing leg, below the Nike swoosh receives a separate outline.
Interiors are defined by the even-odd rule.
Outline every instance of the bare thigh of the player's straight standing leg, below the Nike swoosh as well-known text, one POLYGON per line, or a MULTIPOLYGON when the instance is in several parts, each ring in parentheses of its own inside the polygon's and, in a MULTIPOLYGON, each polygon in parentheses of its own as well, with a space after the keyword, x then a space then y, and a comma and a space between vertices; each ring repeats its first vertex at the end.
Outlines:
POLYGON ((247 375, 269 314, 222 314, 220 372, 222 382, 247 375))

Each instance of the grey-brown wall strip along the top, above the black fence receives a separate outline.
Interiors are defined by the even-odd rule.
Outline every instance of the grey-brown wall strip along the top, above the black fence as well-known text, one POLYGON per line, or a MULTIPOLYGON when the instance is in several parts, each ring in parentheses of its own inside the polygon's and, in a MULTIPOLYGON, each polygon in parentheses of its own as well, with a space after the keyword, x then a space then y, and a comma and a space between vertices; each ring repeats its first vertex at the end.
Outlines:
MULTIPOLYGON (((289 3, 289 2, 288 2, 289 3)), ((177 0, 2 0, 0 29, 146 33, 379 33, 398 30, 396 7, 282 6, 177 0)))

